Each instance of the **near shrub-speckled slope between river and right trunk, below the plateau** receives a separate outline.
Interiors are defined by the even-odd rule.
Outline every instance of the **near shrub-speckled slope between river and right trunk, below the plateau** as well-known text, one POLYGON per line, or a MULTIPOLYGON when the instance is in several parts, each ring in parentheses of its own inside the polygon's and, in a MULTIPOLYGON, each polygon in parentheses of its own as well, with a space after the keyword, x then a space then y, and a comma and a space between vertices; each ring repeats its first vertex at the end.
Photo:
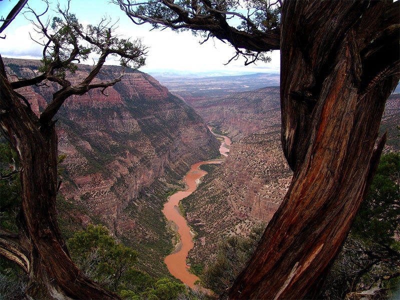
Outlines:
POLYGON ((183 200, 197 233, 190 258, 207 264, 225 236, 246 236, 255 224, 266 224, 279 207, 291 175, 280 150, 279 128, 268 127, 233 143, 226 161, 183 200))

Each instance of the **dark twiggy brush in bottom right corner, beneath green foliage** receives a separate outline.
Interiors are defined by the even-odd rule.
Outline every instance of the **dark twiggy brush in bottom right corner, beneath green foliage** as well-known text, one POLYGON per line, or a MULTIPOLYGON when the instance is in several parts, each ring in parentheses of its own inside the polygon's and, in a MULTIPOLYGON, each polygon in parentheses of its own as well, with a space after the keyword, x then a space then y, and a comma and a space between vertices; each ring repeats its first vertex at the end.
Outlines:
POLYGON ((400 243, 385 247, 370 240, 346 239, 319 298, 344 299, 349 293, 375 290, 369 299, 384 299, 398 288, 400 243))

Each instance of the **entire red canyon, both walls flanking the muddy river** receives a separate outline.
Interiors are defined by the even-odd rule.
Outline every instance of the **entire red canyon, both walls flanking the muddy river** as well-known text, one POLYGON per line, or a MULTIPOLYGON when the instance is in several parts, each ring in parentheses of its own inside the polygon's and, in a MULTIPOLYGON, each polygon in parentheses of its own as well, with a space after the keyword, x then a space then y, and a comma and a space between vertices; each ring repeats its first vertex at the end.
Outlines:
MULTIPOLYGON (((31 77, 35 60, 4 58, 11 80, 31 77)), ((73 76, 89 69, 79 65, 73 76)), ((106 66, 99 80, 118 76, 106 66)), ((194 235, 192 266, 207 266, 218 243, 266 225, 279 206, 292 172, 281 151, 280 102, 276 75, 230 78, 157 79, 125 69, 121 82, 68 98, 56 115, 62 180, 58 221, 66 238, 89 223, 104 224, 118 241, 139 251, 141 269, 165 276, 163 263, 174 234, 161 212, 193 163, 219 156, 218 141, 207 129, 232 139, 220 164, 202 165, 208 173, 181 200, 194 235), (247 79, 246 79, 247 78, 247 79), (247 81, 246 81, 247 80, 247 81), (253 82, 253 83, 251 83, 253 82), (254 83, 255 82, 255 83, 254 83)), ((54 86, 17 90, 36 112, 51 99, 54 86)), ((400 97, 389 97, 381 132, 385 151, 400 150, 397 134, 400 97)))

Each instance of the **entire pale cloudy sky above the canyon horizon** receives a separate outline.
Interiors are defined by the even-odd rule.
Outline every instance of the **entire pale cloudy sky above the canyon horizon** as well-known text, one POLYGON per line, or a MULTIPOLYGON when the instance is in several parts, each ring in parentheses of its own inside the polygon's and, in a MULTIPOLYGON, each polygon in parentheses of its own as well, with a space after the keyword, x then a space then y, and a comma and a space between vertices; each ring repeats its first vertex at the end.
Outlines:
MULTIPOLYGON (((5 18, 9 7, 17 0, 0 0, 0 16, 5 18)), ((28 0, 35 10, 41 12, 39 0, 28 0), (38 6, 34 6, 38 5, 38 6)), ((56 3, 56 0, 52 0, 56 3)), ((60 0, 60 3, 65 1, 60 0)), ((41 5, 42 6, 42 5, 41 5)), ((24 11, 24 9, 22 10, 24 11)), ((115 4, 108 0, 72 0, 70 12, 76 14, 82 24, 96 24, 101 17, 109 16, 118 21, 118 34, 125 37, 141 38, 142 43, 148 47, 146 65, 140 70, 151 72, 157 70, 179 70, 189 72, 226 71, 233 73, 244 72, 279 72, 279 51, 274 51, 270 56, 270 63, 257 62, 256 65, 244 66, 243 60, 233 60, 224 65, 235 51, 233 47, 217 40, 208 40, 200 45, 200 37, 193 36, 190 32, 173 32, 165 30, 149 30, 149 25, 135 25, 115 4)), ((51 12, 54 15, 53 12, 51 12)), ((19 13, 10 25, 2 32, 5 39, 0 39, 0 53, 3 57, 40 59, 42 47, 32 41, 29 32, 33 34, 30 22, 19 13)), ((107 61, 115 64, 112 60, 107 61)))

